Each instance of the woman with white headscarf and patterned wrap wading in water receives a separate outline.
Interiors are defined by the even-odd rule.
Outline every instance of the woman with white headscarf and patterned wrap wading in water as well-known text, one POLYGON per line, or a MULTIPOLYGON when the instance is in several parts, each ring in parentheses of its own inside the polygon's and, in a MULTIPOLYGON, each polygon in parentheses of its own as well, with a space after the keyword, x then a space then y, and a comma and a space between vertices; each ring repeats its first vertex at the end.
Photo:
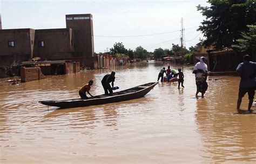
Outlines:
POLYGON ((206 82, 208 73, 207 65, 205 64, 205 57, 200 57, 200 61, 194 66, 193 73, 196 74, 196 98, 198 98, 199 92, 201 92, 202 98, 204 98, 205 91, 208 88, 208 84, 206 82))

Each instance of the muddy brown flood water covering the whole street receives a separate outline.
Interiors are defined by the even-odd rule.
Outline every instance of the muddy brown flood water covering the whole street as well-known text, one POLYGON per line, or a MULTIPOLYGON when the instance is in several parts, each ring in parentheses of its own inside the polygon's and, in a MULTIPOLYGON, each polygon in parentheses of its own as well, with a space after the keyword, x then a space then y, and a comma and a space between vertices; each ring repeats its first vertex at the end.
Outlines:
MULTIPOLYGON (((156 81, 163 66, 116 67, 116 91, 156 81)), ((256 162, 256 114, 235 113, 239 77, 208 77, 205 98, 196 99, 192 66, 171 64, 179 67, 185 88, 159 83, 140 99, 64 110, 38 101, 78 98, 90 79, 91 94, 103 94, 111 70, 0 86, 0 163, 256 162)))

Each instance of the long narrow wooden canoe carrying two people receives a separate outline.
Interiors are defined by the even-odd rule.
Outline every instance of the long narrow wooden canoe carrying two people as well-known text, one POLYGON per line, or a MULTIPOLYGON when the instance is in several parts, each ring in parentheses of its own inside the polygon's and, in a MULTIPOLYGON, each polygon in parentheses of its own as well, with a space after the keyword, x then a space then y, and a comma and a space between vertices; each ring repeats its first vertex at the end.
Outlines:
POLYGON ((100 105, 107 103, 115 103, 119 101, 126 101, 131 99, 137 99, 144 97, 145 94, 149 93, 158 82, 147 83, 139 85, 136 87, 129 88, 127 90, 114 92, 112 95, 96 95, 95 97, 88 99, 69 99, 69 100, 45 100, 39 101, 44 105, 57 106, 60 108, 73 108, 73 107, 83 107, 90 105, 100 105))

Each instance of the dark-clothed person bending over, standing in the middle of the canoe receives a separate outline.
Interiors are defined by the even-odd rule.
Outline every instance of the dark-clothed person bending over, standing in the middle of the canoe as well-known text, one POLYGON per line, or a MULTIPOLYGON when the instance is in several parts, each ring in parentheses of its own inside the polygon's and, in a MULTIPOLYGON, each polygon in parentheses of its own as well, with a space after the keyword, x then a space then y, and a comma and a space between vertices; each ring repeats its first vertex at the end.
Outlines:
POLYGON ((111 74, 106 74, 102 79, 102 86, 104 88, 105 95, 108 93, 111 95, 113 93, 112 87, 114 87, 114 79, 116 78, 114 77, 115 74, 116 72, 112 71, 111 74), (112 87, 110 86, 110 83, 112 87))

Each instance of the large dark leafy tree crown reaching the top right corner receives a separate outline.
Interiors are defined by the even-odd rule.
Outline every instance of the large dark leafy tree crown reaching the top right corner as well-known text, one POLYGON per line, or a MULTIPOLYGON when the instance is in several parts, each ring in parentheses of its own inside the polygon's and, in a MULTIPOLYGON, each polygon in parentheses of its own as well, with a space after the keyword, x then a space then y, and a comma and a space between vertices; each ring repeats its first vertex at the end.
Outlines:
POLYGON ((214 45, 217 50, 238 44, 240 33, 246 25, 255 24, 255 0, 210 0, 210 6, 197 6, 205 18, 199 26, 206 38, 204 45, 214 45))

